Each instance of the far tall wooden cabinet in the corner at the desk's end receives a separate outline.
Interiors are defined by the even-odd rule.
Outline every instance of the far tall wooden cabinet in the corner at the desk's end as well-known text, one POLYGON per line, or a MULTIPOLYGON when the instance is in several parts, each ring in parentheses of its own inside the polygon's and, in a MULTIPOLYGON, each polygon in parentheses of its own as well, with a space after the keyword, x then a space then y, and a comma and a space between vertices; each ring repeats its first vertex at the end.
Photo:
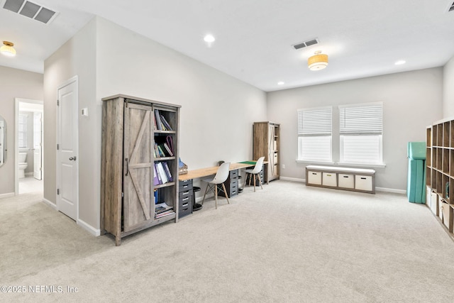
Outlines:
MULTIPOLYGON (((253 159, 265 156, 267 180, 279 179, 279 124, 254 122, 253 159)), ((266 179, 266 178, 265 178, 266 179)))

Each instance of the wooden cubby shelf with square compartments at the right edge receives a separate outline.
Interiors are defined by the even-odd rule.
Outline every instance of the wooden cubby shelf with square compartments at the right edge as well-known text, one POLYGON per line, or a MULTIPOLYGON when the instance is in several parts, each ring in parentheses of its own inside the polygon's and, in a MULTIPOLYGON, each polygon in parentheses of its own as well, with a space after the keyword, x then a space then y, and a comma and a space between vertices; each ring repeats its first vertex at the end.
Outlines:
POLYGON ((454 236, 454 119, 426 129, 426 204, 454 236))

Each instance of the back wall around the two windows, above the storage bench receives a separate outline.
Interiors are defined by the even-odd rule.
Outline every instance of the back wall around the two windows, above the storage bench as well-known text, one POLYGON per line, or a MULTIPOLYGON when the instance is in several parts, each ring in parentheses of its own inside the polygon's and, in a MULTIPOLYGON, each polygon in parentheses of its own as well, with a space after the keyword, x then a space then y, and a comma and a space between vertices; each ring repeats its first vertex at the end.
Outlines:
MULTIPOLYGON (((298 155, 297 109, 382 101, 383 159, 387 166, 375 168, 376 186, 406 190, 406 143, 425 141, 426 126, 443 116, 442 84, 443 69, 437 67, 269 92, 268 119, 281 123, 280 162, 286 165, 281 169, 281 175, 304 179, 304 167, 309 165, 295 161, 298 155)), ((338 113, 336 108, 333 112, 338 113)), ((336 133, 336 117, 333 128, 336 133)), ((339 160, 336 138, 333 138, 333 160, 339 160)))

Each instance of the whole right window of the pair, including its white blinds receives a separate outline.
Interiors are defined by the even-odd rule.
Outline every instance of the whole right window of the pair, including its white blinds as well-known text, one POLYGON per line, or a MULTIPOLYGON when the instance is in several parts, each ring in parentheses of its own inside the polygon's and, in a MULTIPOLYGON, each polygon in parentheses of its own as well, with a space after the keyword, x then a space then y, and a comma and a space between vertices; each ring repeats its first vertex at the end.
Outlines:
POLYGON ((382 164, 382 103, 339 106, 341 162, 382 164))

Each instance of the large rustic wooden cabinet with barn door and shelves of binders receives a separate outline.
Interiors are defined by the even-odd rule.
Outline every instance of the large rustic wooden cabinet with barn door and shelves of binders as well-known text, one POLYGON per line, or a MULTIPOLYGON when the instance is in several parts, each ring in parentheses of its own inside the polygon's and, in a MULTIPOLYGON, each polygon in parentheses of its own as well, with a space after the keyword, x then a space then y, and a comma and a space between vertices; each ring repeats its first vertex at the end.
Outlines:
POLYGON ((121 94, 102 101, 101 231, 118 246, 124 236, 178 220, 180 106, 121 94), (170 151, 157 152, 164 143, 170 151), (166 182, 156 167, 167 170, 166 182), (172 209, 157 215, 162 202, 172 209))

